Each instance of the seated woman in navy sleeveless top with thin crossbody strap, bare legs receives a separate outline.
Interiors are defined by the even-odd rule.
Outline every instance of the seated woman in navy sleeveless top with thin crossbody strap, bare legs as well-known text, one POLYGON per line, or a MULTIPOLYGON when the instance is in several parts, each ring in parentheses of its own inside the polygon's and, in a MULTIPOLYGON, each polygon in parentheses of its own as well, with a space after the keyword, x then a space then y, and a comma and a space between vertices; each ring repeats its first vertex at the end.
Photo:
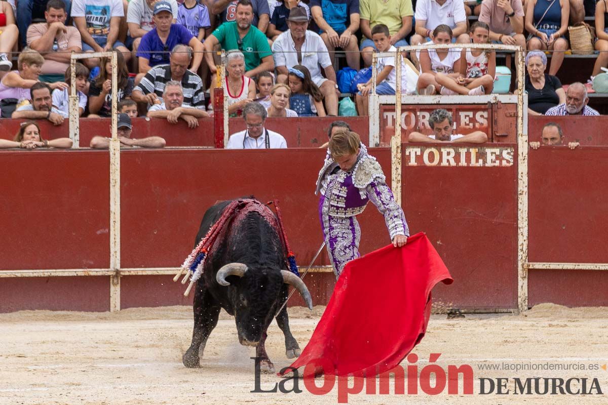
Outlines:
POLYGON ((568 32, 568 1, 528 0, 526 7, 525 28, 533 35, 528 40, 528 50, 552 50, 549 74, 557 75, 568 50, 564 38, 568 32))

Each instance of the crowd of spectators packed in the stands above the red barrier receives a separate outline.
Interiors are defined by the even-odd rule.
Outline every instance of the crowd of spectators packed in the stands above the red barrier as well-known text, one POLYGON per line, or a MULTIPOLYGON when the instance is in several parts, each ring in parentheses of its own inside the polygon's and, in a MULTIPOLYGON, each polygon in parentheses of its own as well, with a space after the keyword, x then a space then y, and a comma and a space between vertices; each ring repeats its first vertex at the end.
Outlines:
MULTIPOLYGON (((409 43, 471 42, 528 50, 530 114, 598 114, 587 106, 585 84, 565 92, 556 77, 568 49, 568 24, 584 18, 582 0, 19 0, 0 1, 0 7, 5 118, 62 124, 69 115, 71 53, 116 51, 116 98, 125 114, 196 128, 198 118, 213 114, 209 94, 219 64, 226 69, 221 86, 230 116, 242 117, 252 103, 264 109, 263 119, 336 116, 344 97, 336 50, 345 52, 345 66, 359 70, 370 66, 373 52, 396 52, 409 43), (472 14, 478 22, 469 25, 472 14), (552 51, 550 65, 544 51, 552 51)), ((606 52, 593 75, 608 66, 606 10, 599 1, 595 47, 606 52)), ((423 49, 406 56, 406 94, 492 92, 494 52, 423 49)), ((395 94, 394 58, 379 58, 377 67, 375 86, 362 81, 353 95, 359 115, 368 114, 373 87, 395 94)), ((80 116, 110 117, 111 59, 81 60, 75 77, 80 116)), ((261 116, 258 110, 252 116, 261 116)))

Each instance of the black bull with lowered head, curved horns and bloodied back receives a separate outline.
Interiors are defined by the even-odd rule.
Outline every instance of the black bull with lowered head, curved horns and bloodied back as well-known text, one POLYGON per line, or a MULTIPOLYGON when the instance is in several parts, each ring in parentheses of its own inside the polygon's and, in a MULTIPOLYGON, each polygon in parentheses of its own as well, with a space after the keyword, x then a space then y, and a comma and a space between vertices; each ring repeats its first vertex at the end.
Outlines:
MULTIPOLYGON (((207 234, 231 201, 217 203, 207 209, 196 236, 195 246, 207 234)), ((273 216, 268 207, 268 213, 273 216)), ((203 273, 196 283, 194 298, 194 331, 192 344, 184 353, 186 367, 199 367, 199 353, 204 352, 207 339, 218 323, 224 308, 235 317, 238 339, 243 345, 256 347, 264 370, 273 369, 266 354, 266 330, 278 308, 287 299, 288 286, 302 295, 310 309, 313 302, 306 285, 290 271, 283 270, 285 250, 277 230, 257 212, 248 212, 233 221, 224 237, 218 237, 209 250, 203 273)), ((285 335, 288 358, 300 355, 300 347, 289 331, 287 307, 276 316, 285 335)))

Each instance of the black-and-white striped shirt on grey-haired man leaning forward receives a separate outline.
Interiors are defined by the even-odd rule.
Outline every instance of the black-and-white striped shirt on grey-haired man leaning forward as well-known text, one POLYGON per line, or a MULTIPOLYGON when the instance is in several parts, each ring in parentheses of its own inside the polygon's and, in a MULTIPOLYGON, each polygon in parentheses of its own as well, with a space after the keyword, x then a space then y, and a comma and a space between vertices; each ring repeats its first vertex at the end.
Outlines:
MULTIPOLYGON (((148 70, 134 90, 139 90, 143 95, 154 92, 162 99, 165 83, 171 80, 171 67, 169 65, 157 65, 148 70)), ((182 77, 184 88, 184 106, 198 108, 205 111, 205 95, 201 78, 196 73, 186 70, 182 77)))

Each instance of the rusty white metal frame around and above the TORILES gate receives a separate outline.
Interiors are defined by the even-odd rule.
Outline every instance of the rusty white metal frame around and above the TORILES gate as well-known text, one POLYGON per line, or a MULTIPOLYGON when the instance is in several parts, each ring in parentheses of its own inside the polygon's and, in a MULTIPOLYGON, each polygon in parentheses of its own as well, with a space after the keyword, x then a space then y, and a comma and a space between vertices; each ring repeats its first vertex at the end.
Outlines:
MULTIPOLYGON (((541 268, 534 267, 535 263, 528 262, 528 99, 523 94, 523 83, 524 83, 524 72, 525 66, 523 62, 523 52, 519 46, 509 46, 505 44, 430 44, 430 45, 417 45, 417 46, 404 46, 399 47, 397 52, 378 52, 373 55, 372 63, 372 89, 370 94, 370 146, 382 146, 380 139, 380 111, 381 106, 386 104, 393 104, 395 106, 395 133, 390 139, 391 148, 391 180, 393 194, 398 204, 401 204, 401 172, 402 172, 402 159, 403 154, 401 151, 402 143, 402 131, 401 131, 401 110, 402 104, 410 105, 434 105, 439 107, 445 104, 517 104, 517 163, 514 162, 514 151, 513 147, 509 147, 513 151, 513 164, 517 164, 518 184, 517 184, 517 230, 518 230, 518 252, 517 252, 517 305, 520 311, 525 311, 528 308, 528 268, 541 268), (495 51, 507 51, 516 52, 517 55, 517 95, 480 95, 480 96, 428 96, 428 95, 404 95, 401 89, 401 58, 404 53, 410 51, 422 50, 422 49, 438 49, 438 48, 471 48, 471 49, 491 49, 495 51), (377 95, 376 94, 376 76, 378 71, 376 69, 377 58, 382 57, 395 57, 396 67, 396 91, 395 95, 377 95)), ((420 120, 418 120, 420 123, 420 120)), ((490 138, 491 140, 491 138, 490 138)), ((412 147, 414 148, 414 147, 412 147)), ((449 146, 437 146, 432 148, 434 150, 435 157, 439 154, 446 155, 441 149, 450 148, 449 146)), ((421 149, 421 148, 420 148, 421 149)), ((482 151, 483 147, 472 148, 477 151, 482 151)), ((425 151, 427 152, 428 149, 425 151)), ((415 154, 408 154, 406 148, 406 155, 412 160, 415 159, 415 154)), ((428 157, 429 154, 427 154, 428 157)), ((454 155, 452 155, 453 157, 454 155)), ((481 156, 481 154, 480 154, 481 156)), ((435 159, 437 162, 438 159, 435 159)), ((443 162, 445 163, 445 162, 443 162)), ((481 163, 481 158, 480 158, 481 163)), ((407 164, 407 161, 406 161, 407 164)), ((436 163, 435 163, 436 164, 436 163)), ((461 159, 458 162, 459 166, 465 165, 465 162, 461 159)), ((472 158, 471 166, 477 166, 477 159, 472 158)), ((496 165, 495 165, 496 166, 496 165)), ((542 264, 545 267, 547 264, 542 264)), ((563 264, 561 264, 563 265, 563 264)), ((561 267, 560 267, 561 268, 561 267)))

